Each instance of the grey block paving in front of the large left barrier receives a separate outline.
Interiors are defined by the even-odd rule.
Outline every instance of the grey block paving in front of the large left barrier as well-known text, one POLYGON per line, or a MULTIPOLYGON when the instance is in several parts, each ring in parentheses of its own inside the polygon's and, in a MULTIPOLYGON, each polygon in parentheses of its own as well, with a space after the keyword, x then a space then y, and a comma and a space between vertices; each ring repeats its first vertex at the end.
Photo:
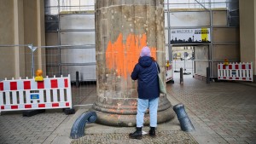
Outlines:
MULTIPOLYGON (((61 110, 47 111, 32 117, 22 112, 2 112, 0 116, 0 143, 43 143, 67 118, 61 110)), ((49 141, 50 142, 50 141, 49 141)))

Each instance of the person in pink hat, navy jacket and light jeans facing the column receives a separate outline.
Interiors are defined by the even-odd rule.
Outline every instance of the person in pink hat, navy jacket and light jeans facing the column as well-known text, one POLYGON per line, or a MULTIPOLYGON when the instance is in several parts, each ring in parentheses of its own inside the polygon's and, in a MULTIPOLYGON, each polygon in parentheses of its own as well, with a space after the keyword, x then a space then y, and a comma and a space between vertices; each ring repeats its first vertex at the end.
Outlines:
POLYGON ((151 57, 148 47, 143 47, 137 65, 131 72, 131 79, 137 80, 137 130, 129 134, 132 139, 142 139, 144 114, 149 108, 150 130, 149 135, 155 136, 155 128, 157 126, 157 109, 160 96, 160 88, 158 81, 158 71, 160 67, 151 57), (158 70, 157 70, 158 68, 158 70))

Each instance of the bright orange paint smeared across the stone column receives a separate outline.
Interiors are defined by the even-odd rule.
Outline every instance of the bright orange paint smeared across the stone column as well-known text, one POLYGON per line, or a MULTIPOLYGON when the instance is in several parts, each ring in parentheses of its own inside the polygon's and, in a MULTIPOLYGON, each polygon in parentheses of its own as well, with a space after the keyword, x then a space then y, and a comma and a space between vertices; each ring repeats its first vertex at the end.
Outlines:
MULTIPOLYGON (((129 34, 123 43, 123 35, 120 33, 116 42, 108 42, 106 49, 106 65, 108 69, 114 69, 118 76, 127 78, 138 62, 140 52, 147 45, 147 36, 141 37, 129 34)), ((156 60, 156 48, 150 48, 151 56, 156 60)), ((129 76, 130 77, 130 76, 129 76)))

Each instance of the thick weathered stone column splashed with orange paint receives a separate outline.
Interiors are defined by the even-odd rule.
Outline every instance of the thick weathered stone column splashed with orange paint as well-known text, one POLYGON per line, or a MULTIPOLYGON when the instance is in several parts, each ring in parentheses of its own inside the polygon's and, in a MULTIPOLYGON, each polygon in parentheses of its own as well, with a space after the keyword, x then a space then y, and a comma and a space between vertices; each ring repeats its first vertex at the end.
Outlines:
MULTIPOLYGON (((164 0, 96 0, 97 122, 135 126, 137 81, 131 72, 148 45, 165 79, 164 0)), ((174 118, 172 104, 160 95, 158 123, 174 118)), ((146 114, 145 124, 149 124, 146 114)))

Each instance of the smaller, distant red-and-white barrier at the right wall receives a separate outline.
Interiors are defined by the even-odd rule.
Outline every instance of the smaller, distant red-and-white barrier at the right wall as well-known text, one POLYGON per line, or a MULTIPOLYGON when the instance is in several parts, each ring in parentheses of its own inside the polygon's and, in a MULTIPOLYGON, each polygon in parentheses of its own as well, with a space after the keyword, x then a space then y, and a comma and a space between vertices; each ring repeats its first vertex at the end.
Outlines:
POLYGON ((218 79, 253 82, 253 63, 218 64, 218 79))

